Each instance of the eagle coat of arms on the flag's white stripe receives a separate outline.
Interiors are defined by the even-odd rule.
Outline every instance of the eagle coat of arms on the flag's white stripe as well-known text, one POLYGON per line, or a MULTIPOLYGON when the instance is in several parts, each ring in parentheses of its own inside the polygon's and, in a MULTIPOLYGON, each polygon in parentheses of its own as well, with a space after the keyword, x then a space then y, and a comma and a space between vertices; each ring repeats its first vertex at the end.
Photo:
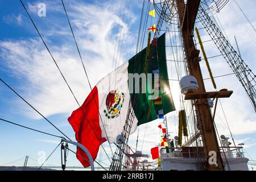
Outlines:
POLYGON ((123 100, 125 100, 125 94, 119 93, 117 90, 112 90, 106 97, 106 108, 104 113, 106 118, 114 119, 119 117, 120 111, 123 106, 123 100))

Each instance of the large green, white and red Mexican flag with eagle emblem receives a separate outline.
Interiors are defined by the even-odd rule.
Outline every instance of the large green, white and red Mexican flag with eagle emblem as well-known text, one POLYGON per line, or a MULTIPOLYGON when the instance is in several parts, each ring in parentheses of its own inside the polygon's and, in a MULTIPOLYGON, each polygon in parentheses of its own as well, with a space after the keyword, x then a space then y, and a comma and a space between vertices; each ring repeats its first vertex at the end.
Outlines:
MULTIPOLYGON (((113 143, 122 133, 129 108, 135 115, 130 134, 139 125, 175 110, 168 81, 165 34, 150 45, 148 63, 146 52, 145 48, 102 78, 84 104, 68 118, 77 142, 89 150, 93 160, 102 143, 106 140, 113 143)), ((77 159, 84 167, 90 166, 80 148, 77 148, 77 159)))

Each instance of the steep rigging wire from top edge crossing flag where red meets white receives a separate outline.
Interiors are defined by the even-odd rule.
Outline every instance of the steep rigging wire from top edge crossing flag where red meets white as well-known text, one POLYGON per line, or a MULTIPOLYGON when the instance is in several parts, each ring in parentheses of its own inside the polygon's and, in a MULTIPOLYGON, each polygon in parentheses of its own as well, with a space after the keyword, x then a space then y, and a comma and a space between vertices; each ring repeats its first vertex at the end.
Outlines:
MULTIPOLYGON (((86 76, 86 78, 87 78, 88 84, 89 84, 89 86, 90 86, 90 90, 91 90, 91 92, 92 92, 92 85, 90 85, 90 80, 89 80, 88 74, 87 74, 86 69, 85 69, 85 66, 84 66, 84 61, 82 60, 82 56, 81 56, 81 53, 80 53, 80 50, 79 50, 79 46, 78 46, 78 44, 77 44, 77 42, 76 42, 75 34, 74 34, 74 32, 73 32, 73 28, 72 28, 71 23, 70 23, 70 20, 69 20, 69 18, 68 18, 67 10, 66 10, 66 8, 65 8, 65 5, 64 5, 63 0, 61 0, 61 2, 62 2, 62 5, 63 5, 63 8, 64 8, 64 11, 65 11, 65 14, 66 14, 66 16, 67 16, 68 24, 69 24, 69 27, 70 27, 70 29, 71 29, 73 38, 74 38, 75 43, 76 43, 76 48, 77 48, 77 51, 78 51, 78 53, 79 53, 79 57, 80 57, 80 60, 81 60, 81 63, 82 63, 82 67, 84 68, 85 76, 86 76)), ((75 97, 75 96, 74 96, 74 97, 75 97)), ((95 102, 95 105, 97 106, 97 102, 96 102, 96 100, 95 100, 94 94, 93 94, 93 100, 94 100, 94 102, 95 102)), ((77 102, 77 104, 79 104, 79 103, 77 102)), ((79 106, 80 106, 80 105, 79 105, 79 106)), ((80 107, 81 107, 81 106, 80 106, 80 107)), ((83 113, 84 113, 84 112, 83 112, 83 113)), ((106 134, 106 129, 105 129, 105 126, 103 125, 103 121, 102 121, 101 114, 100 114, 100 111, 99 111, 99 110, 98 110, 98 114, 100 115, 100 119, 101 119, 101 122, 102 122, 102 126, 103 126, 104 131, 105 131, 105 134, 106 134)), ((89 121, 88 121, 88 123, 89 123, 89 121)), ((106 138, 108 139, 108 135, 107 135, 107 134, 106 134, 106 138)), ((108 139, 108 143, 109 143, 109 139, 108 139)), ((109 143, 109 147, 110 147, 110 150, 112 151, 112 155, 113 155, 113 150, 112 150, 112 147, 111 147, 110 143, 109 143)))

